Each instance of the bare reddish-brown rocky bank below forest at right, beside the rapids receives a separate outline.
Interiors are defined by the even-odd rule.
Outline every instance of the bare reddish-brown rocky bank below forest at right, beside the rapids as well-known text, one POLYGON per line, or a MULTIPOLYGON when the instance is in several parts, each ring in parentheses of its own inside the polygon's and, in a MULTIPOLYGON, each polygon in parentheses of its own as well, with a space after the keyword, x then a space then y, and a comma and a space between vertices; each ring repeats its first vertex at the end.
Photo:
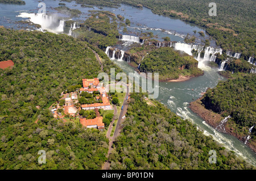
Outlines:
MULTIPOLYGON (((207 124, 209 124, 211 127, 216 129, 218 126, 220 126, 221 120, 224 120, 224 117, 222 117, 220 114, 218 114, 216 112, 207 110, 204 107, 204 104, 201 102, 201 99, 203 99, 203 96, 201 98, 197 99, 196 101, 191 102, 189 108, 191 109, 191 111, 193 111, 197 115, 199 115, 207 124)), ((238 138, 238 140, 240 140, 242 142, 246 141, 247 134, 238 133, 237 129, 234 128, 232 126, 232 123, 230 123, 229 121, 224 123, 223 126, 225 129, 220 129, 220 130, 218 129, 218 131, 232 135, 232 136, 238 138)), ((249 146, 249 148, 251 150, 256 152, 256 142, 249 140, 249 141, 247 141, 246 145, 249 146)))

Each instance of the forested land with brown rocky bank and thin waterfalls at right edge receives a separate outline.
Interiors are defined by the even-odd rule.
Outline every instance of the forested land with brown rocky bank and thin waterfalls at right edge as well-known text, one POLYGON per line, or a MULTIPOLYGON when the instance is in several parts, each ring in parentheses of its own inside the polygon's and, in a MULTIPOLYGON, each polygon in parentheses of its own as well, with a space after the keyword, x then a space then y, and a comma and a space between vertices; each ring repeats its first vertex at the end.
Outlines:
POLYGON ((255 74, 221 81, 189 108, 213 128, 237 137, 256 152, 255 81, 255 74))

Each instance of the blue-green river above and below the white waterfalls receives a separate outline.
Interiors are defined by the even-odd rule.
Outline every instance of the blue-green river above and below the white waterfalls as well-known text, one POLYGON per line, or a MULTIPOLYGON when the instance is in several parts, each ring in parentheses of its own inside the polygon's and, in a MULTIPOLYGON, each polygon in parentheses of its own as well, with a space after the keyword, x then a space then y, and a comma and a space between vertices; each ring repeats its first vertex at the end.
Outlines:
MULTIPOLYGON (((21 12, 29 14, 38 12, 38 3, 39 2, 35 0, 27 0, 26 5, 0 4, 0 25, 17 30, 24 27, 27 28, 26 25, 17 22, 27 18, 18 17, 18 15, 20 15, 21 12)), ((59 3, 60 1, 47 1, 46 6, 47 12, 55 13, 55 15, 57 14, 57 19, 60 20, 62 17, 65 18, 65 15, 58 14, 52 9, 52 7, 58 7, 59 3)), ((71 9, 79 9, 82 11, 82 15, 79 18, 73 18, 73 20, 76 20, 77 22, 88 18, 89 10, 100 10, 97 7, 94 7, 93 9, 89 7, 80 7, 80 5, 76 5, 75 2, 64 3, 71 9)), ((199 36, 199 33, 193 34, 193 30, 196 30, 197 32, 205 32, 204 28, 197 27, 191 23, 182 22, 179 19, 155 15, 147 8, 141 10, 128 5, 121 5, 118 9, 104 7, 103 10, 112 11, 116 15, 120 14, 125 16, 125 18, 129 18, 131 25, 127 27, 127 30, 133 31, 134 35, 136 32, 153 32, 154 35, 158 36, 156 39, 160 41, 162 41, 162 37, 168 36, 172 41, 179 41, 181 43, 187 33, 196 36, 196 43, 200 43, 200 41, 204 39, 209 39, 207 33, 205 33, 205 37, 199 36)), ((56 23, 56 26, 59 26, 59 24, 56 23)), ((35 30, 35 27, 32 26, 28 26, 28 28, 35 30)), ((122 30, 119 30, 119 33, 123 34, 122 30)), ((218 48, 213 40, 210 41, 210 46, 218 48)), ((123 49, 129 49, 129 44, 123 45, 123 49)), ((138 76, 137 72, 134 71, 134 68, 128 65, 126 61, 113 61, 127 74, 134 73, 138 76)), ((159 82, 159 96, 157 100, 166 104, 172 112, 195 123, 204 134, 212 136, 214 140, 224 145, 229 150, 233 150, 236 155, 256 166, 255 153, 243 142, 233 136, 216 131, 188 108, 189 102, 199 98, 201 92, 205 92, 208 87, 215 87, 218 81, 225 79, 217 73, 218 69, 211 69, 203 64, 199 64, 199 68, 204 70, 204 75, 201 77, 191 78, 185 82, 159 82)))

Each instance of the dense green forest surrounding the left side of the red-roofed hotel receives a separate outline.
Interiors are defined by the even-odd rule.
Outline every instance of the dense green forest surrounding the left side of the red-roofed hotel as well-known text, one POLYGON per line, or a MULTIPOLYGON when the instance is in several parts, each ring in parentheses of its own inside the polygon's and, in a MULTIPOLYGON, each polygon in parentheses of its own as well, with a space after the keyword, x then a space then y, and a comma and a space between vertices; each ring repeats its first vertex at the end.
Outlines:
MULTIPOLYGON (((53 119, 48 110, 68 86, 101 72, 88 44, 67 35, 0 28, 0 47, 0 60, 14 62, 13 69, 0 69, 0 168, 101 169, 105 134, 53 119), (46 151, 44 165, 38 164, 39 150, 46 151)), ((102 62, 105 72, 115 68, 107 58, 102 62)))

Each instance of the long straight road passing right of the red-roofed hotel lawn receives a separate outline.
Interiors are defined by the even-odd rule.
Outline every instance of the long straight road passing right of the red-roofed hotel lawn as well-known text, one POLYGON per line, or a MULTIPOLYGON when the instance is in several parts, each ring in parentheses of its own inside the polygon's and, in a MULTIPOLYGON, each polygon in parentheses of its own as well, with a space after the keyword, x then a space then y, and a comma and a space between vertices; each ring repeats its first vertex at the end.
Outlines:
MULTIPOLYGON (((109 151, 108 151, 108 155, 107 155, 107 158, 109 158, 109 154, 112 152, 113 148, 112 148, 112 145, 113 145, 113 141, 115 140, 115 138, 120 134, 121 132, 121 125, 122 125, 122 122, 124 119, 122 119, 122 117, 126 114, 127 112, 127 96, 129 95, 129 86, 127 86, 126 88, 126 94, 125 94, 125 100, 123 100, 123 109, 121 110, 120 112, 120 115, 119 115, 119 118, 118 118, 118 121, 117 121, 117 127, 115 127, 115 132, 114 132, 114 135, 113 137, 110 137, 110 134, 109 134, 109 151)), ((115 107, 116 108, 116 107, 115 107)), ((113 121, 112 121, 112 125, 113 125, 113 121)), ((112 130, 112 129, 111 129, 112 130)), ((109 131, 108 131, 109 132, 109 131)), ((110 131, 111 133, 111 131, 110 131)), ((104 166, 102 167, 102 170, 109 170, 109 167, 110 167, 110 163, 109 161, 106 161, 104 163, 104 166)))

